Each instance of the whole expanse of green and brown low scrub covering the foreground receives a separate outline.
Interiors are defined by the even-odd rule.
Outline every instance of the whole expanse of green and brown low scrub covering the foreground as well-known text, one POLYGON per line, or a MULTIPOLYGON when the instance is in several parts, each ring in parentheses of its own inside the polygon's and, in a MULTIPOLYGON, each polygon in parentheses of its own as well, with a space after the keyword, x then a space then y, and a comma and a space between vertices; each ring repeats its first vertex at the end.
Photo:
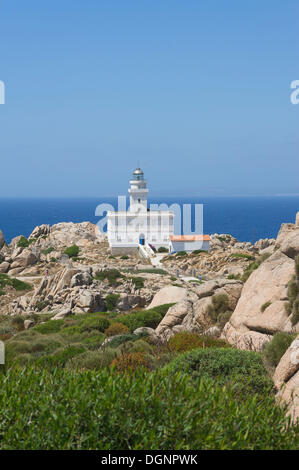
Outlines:
POLYGON ((0 449, 297 448, 259 353, 194 333, 158 344, 132 333, 155 328, 171 305, 38 314, 29 330, 0 317, 0 449))

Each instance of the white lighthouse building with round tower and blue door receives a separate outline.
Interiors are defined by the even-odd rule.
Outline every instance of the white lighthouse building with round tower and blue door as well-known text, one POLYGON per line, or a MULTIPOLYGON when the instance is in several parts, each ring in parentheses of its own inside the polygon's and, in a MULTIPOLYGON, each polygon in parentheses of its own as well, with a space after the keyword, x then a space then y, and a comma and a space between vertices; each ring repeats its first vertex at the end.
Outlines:
POLYGON ((174 213, 150 211, 148 189, 143 171, 137 168, 130 180, 130 206, 127 211, 107 213, 107 237, 113 254, 135 252, 137 249, 170 249, 174 230, 174 213), (142 248, 141 248, 142 249, 142 248))

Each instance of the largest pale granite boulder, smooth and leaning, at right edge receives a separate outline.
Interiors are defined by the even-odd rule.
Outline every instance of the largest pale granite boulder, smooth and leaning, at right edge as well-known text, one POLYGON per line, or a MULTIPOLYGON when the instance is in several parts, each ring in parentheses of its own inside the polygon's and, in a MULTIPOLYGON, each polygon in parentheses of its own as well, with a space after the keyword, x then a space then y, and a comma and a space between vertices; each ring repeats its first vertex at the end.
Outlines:
POLYGON ((299 331, 299 323, 292 324, 286 310, 288 284, 295 273, 297 253, 299 227, 282 224, 274 253, 248 278, 222 338, 241 349, 250 339, 250 348, 261 350, 276 332, 299 331))

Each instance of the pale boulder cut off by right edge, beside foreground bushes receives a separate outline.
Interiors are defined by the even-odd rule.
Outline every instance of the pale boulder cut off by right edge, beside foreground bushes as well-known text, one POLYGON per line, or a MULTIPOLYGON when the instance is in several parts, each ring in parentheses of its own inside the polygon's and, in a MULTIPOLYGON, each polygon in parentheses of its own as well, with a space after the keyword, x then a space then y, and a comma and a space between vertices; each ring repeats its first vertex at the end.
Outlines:
POLYGON ((288 404, 293 421, 299 419, 299 336, 282 356, 274 373, 277 398, 288 404))

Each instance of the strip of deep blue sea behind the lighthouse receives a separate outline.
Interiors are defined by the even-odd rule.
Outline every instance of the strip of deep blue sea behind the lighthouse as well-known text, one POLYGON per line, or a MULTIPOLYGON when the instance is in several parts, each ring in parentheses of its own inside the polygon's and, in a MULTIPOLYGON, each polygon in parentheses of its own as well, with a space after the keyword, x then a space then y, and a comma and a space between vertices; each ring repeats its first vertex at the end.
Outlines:
MULTIPOLYGON (((98 204, 116 198, 83 199, 0 199, 0 229, 7 242, 17 236, 28 237, 34 227, 58 222, 97 223, 98 204)), ((240 241, 255 242, 275 238, 280 225, 294 223, 299 211, 299 197, 206 197, 152 198, 149 203, 203 204, 204 233, 229 233, 240 241)))

